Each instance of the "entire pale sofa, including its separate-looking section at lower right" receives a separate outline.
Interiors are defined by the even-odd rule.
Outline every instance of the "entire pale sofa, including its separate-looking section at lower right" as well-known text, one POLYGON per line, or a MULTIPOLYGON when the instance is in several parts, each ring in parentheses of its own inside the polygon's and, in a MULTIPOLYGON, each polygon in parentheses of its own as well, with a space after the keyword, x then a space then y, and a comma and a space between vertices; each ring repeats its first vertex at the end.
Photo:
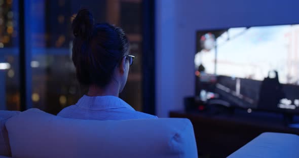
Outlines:
MULTIPOLYGON (((250 131, 248 131, 250 132, 250 131)), ((299 136, 263 133, 229 157, 299 157, 299 136)), ((197 157, 188 119, 88 121, 0 111, 2 157, 197 157)))

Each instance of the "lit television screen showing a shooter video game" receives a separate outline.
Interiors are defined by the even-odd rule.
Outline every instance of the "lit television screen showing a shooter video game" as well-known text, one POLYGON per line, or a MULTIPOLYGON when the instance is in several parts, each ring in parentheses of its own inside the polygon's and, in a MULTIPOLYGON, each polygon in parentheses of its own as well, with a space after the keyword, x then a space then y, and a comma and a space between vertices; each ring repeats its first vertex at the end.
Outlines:
POLYGON ((195 68, 236 106, 299 113, 299 25, 198 31, 195 68))

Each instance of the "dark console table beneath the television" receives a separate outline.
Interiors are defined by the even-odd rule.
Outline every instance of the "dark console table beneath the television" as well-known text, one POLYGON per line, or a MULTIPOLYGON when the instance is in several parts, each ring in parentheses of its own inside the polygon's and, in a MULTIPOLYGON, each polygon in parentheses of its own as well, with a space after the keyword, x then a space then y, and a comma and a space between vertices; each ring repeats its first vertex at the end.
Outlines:
MULTIPOLYGON (((264 132, 292 133, 299 135, 298 128, 290 128, 278 113, 237 110, 234 114, 171 111, 170 117, 191 120, 199 155, 226 157, 264 132)), ((299 123, 296 116, 294 122, 299 123)))

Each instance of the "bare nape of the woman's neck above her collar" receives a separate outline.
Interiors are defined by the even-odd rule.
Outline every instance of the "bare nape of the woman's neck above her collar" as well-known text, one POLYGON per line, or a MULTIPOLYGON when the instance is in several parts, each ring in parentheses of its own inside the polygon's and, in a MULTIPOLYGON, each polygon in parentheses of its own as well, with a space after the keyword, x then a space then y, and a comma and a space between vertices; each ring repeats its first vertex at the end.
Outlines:
POLYGON ((99 88, 96 85, 89 86, 88 96, 116 96, 119 97, 119 88, 117 85, 109 84, 105 88, 99 88))

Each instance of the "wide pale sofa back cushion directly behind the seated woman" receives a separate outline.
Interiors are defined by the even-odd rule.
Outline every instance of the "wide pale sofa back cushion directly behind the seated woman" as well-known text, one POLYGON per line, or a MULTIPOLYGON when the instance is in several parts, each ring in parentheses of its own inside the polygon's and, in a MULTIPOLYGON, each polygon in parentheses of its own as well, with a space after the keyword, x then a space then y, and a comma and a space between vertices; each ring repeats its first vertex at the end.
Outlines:
POLYGON ((29 109, 6 125, 13 157, 197 157, 188 119, 76 120, 29 109))

